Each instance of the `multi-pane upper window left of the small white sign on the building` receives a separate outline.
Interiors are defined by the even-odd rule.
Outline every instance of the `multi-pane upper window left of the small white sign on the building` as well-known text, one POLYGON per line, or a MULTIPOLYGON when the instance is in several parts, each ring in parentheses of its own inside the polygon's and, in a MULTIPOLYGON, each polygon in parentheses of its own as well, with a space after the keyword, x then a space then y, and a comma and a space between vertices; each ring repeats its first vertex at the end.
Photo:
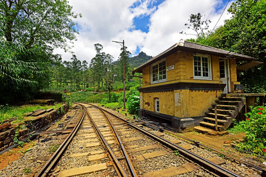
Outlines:
POLYGON ((166 79, 166 61, 152 66, 152 82, 166 79))

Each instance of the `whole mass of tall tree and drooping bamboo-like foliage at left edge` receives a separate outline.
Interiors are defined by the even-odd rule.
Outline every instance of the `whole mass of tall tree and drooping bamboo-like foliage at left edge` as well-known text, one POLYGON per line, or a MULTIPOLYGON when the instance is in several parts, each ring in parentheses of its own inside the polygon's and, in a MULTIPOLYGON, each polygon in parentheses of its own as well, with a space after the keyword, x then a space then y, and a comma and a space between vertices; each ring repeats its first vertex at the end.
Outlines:
POLYGON ((53 49, 67 50, 75 39, 71 9, 66 0, 0 1, 0 102, 30 98, 47 86, 48 67, 60 58, 53 49))

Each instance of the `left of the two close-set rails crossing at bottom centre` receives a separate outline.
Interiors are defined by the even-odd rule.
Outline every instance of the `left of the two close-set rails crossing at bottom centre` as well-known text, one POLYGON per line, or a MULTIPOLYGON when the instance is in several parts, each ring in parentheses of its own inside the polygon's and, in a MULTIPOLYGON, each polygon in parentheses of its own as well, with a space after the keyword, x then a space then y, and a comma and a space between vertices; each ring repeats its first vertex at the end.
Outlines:
MULTIPOLYGON (((79 103, 76 103, 79 104, 79 103)), ((103 135, 100 133, 100 129, 97 127, 96 123, 94 122, 94 120, 91 118, 91 116, 89 115, 89 113, 87 112, 86 108, 84 105, 82 105, 84 107, 84 112, 87 113, 87 115, 89 116, 89 118, 91 119, 91 122, 94 126, 94 128, 96 129, 98 135, 100 136, 101 141, 103 142, 104 146, 107 148, 111 158, 114 161, 115 167, 116 169, 118 169, 119 171, 119 175, 121 175, 122 177, 128 177, 127 173, 124 171, 122 165, 120 164, 119 160, 116 158, 113 150, 111 149, 111 147, 108 145, 108 143, 106 142, 106 140, 104 139, 103 135)))

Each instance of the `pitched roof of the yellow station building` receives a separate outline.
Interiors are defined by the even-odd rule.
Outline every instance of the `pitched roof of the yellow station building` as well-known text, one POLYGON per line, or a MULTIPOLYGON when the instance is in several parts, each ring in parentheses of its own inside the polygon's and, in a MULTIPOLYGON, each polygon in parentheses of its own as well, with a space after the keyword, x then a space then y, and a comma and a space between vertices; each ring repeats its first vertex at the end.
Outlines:
POLYGON ((162 52, 161 54, 157 55, 156 57, 153 57, 152 59, 148 60, 147 62, 141 64, 140 66, 138 66, 136 69, 134 69, 132 71, 132 73, 136 73, 136 72, 142 72, 142 68, 150 65, 153 62, 156 62, 160 59, 165 58, 166 56, 170 55, 171 53, 175 52, 175 51, 189 51, 192 53, 200 53, 200 54, 208 54, 208 55, 216 55, 216 56, 220 56, 222 58, 231 58, 231 59, 236 59, 238 60, 255 60, 253 57, 249 57, 249 56, 245 56, 245 55, 241 55, 241 54, 237 54, 234 52, 230 52, 230 51, 226 51, 226 50, 222 50, 222 49, 217 49, 214 47, 209 47, 209 46, 205 46, 202 44, 197 44, 194 42, 190 42, 190 41, 186 41, 186 40, 180 40, 180 42, 174 44, 173 46, 171 46, 170 48, 168 48, 166 51, 162 52))

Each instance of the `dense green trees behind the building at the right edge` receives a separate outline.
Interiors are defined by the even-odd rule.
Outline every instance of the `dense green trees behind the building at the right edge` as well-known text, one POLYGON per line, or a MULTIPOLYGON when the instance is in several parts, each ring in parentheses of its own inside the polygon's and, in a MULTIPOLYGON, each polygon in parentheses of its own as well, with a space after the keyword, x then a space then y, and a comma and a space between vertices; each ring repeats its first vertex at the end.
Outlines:
POLYGON ((232 19, 200 43, 263 61, 238 73, 238 80, 247 92, 266 92, 266 0, 237 0, 229 12, 232 19))

